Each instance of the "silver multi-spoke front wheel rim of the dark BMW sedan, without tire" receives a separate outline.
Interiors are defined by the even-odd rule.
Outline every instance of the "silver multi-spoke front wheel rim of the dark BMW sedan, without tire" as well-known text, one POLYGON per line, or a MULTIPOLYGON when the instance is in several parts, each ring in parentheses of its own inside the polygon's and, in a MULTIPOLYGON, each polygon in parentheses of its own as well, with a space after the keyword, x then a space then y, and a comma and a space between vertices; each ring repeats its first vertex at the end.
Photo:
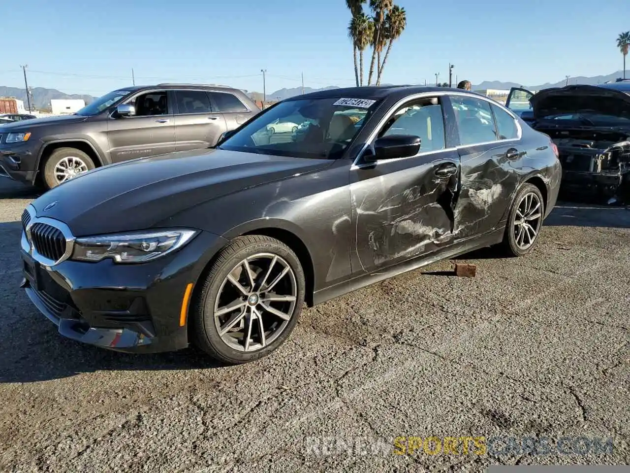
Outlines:
POLYGON ((278 255, 247 257, 227 274, 214 301, 221 340, 238 351, 273 343, 294 315, 297 283, 289 263, 278 255))

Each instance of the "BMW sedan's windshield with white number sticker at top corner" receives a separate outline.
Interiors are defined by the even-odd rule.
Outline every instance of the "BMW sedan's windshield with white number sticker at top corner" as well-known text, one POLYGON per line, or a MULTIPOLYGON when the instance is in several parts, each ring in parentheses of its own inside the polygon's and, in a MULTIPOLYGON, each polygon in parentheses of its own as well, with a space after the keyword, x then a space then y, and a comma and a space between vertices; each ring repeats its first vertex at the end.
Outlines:
POLYGON ((220 149, 295 158, 338 159, 376 107, 375 100, 311 98, 278 103, 220 149))

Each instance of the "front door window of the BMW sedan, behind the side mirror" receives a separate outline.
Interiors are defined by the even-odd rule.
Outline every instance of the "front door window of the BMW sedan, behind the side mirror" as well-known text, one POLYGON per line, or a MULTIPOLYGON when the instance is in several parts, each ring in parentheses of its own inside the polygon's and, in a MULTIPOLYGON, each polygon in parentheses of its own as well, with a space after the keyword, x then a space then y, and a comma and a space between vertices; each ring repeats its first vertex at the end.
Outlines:
POLYGON ((423 99, 399 108, 379 134, 419 136, 420 152, 446 148, 444 139, 444 115, 437 99, 423 99))

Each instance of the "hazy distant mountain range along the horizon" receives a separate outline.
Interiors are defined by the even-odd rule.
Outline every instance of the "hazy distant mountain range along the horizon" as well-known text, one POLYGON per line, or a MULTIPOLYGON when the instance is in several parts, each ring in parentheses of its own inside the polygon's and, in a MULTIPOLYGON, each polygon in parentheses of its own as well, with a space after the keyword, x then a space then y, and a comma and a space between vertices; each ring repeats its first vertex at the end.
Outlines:
MULTIPOLYGON (((608 74, 607 76, 570 77, 568 79, 568 82, 570 84, 597 85, 597 84, 603 84, 608 81, 614 81, 615 79, 622 77, 622 75, 623 75, 622 71, 617 71, 616 73, 608 74)), ((628 75, 629 74, 626 74, 626 76, 628 75)), ((512 87, 524 87, 529 90, 542 90, 542 89, 548 89, 552 87, 563 87, 564 85, 566 85, 566 78, 556 83, 545 83, 542 85, 533 85, 533 86, 527 86, 527 85, 524 86, 517 82, 483 81, 479 84, 473 85, 473 90, 486 90, 486 89, 504 90, 504 89, 510 89, 512 87)), ((303 93, 317 92, 320 90, 330 90, 330 89, 336 89, 336 88, 339 88, 339 87, 335 85, 329 85, 327 87, 319 88, 319 89, 315 89, 311 87, 304 87, 303 93)), ((93 102, 93 100, 95 100, 95 97, 91 95, 67 94, 56 89, 47 89, 43 87, 35 87, 32 89, 32 91, 33 91, 34 103, 31 103, 31 106, 34 105, 35 108, 49 108, 50 100, 54 98, 55 99, 56 98, 83 98, 83 100, 85 100, 86 103, 90 103, 90 102, 93 102)), ((259 101, 263 100, 263 93, 261 92, 249 92, 248 94, 254 100, 259 100, 259 101)), ((273 100, 273 101, 284 100, 285 98, 289 98, 289 97, 293 97, 295 95, 301 95, 301 94, 302 94, 301 87, 295 87, 295 88, 290 88, 290 89, 283 88, 280 90, 267 93, 266 98, 267 100, 273 100)), ((26 93, 24 89, 20 89, 17 87, 0 86, 0 96, 18 98, 20 100, 23 100, 24 105, 26 106, 26 93)))

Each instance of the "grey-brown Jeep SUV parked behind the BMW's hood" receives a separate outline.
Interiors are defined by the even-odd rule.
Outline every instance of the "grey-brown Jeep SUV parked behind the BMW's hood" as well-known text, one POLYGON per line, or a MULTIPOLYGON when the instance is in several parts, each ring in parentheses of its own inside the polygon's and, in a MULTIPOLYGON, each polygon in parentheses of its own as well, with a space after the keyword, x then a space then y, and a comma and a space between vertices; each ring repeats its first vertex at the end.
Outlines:
POLYGON ((229 87, 125 87, 74 115, 3 126, 0 176, 52 189, 100 166, 209 148, 258 112, 243 91, 229 87))

